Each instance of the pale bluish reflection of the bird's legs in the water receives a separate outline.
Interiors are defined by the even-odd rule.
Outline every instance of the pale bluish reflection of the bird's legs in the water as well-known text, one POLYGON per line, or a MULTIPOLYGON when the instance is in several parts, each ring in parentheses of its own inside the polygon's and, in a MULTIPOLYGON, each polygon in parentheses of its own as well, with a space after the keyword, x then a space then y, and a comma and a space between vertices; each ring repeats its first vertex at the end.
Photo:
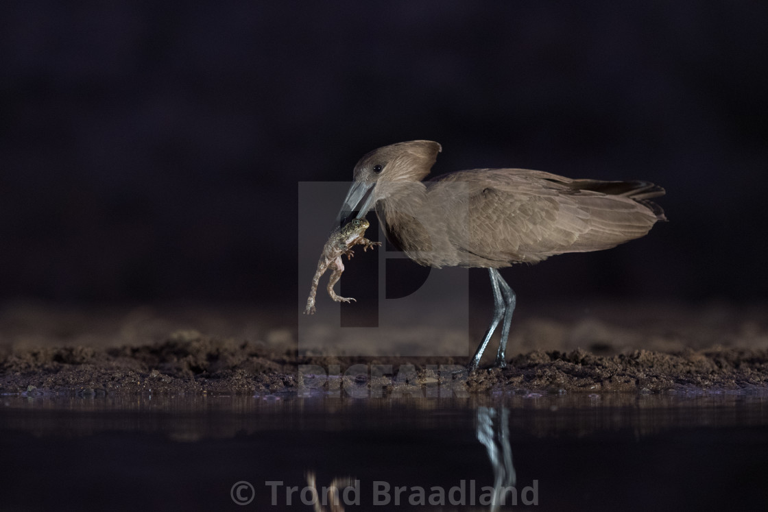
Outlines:
POLYGON ((498 510, 505 503, 507 491, 515 493, 517 476, 512 465, 512 449, 509 446, 509 409, 478 407, 477 436, 488 451, 488 460, 493 468, 493 498, 489 510, 498 510))

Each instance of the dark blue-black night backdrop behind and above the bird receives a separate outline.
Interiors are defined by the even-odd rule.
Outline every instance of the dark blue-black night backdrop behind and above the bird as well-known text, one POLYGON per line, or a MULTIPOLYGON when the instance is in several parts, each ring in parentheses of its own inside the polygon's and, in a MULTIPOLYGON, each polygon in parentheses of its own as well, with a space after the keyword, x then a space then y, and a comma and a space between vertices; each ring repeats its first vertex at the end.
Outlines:
POLYGON ((581 3, 2 2, 0 299, 293 309, 297 183, 412 139, 667 189, 518 296, 764 299, 768 4, 581 3))

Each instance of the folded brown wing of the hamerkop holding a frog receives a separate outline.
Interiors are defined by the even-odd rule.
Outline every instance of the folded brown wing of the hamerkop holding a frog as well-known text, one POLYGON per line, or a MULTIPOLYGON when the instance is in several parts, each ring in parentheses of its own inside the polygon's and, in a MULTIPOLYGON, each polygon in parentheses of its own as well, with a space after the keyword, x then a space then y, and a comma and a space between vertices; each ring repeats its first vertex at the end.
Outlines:
MULTIPOLYGON (((442 206, 455 247, 486 264, 607 249, 643 236, 660 219, 639 202, 649 197, 650 183, 571 180, 523 169, 459 171, 428 183, 442 185, 429 189, 429 203, 442 206), (451 193, 450 183, 462 186, 451 193), (632 183, 644 191, 637 200, 632 183), (466 215, 457 215, 462 209, 466 215)), ((475 263, 467 257, 459 264, 475 263)))

